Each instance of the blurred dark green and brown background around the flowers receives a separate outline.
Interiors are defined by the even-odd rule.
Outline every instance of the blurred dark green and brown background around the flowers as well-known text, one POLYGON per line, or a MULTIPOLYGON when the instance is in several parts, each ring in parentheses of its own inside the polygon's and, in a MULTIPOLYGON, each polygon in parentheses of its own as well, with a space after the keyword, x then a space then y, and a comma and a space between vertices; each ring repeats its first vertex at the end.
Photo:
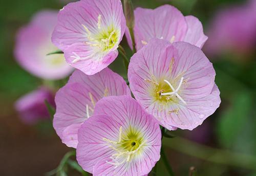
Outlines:
MULTIPOLYGON (((204 31, 220 8, 244 4, 241 0, 136 0, 135 6, 176 6, 184 15, 195 15, 204 31)), ((32 15, 42 9, 61 9, 60 0, 2 1, 0 6, 0 175, 44 175, 57 167, 70 148, 62 144, 51 122, 23 124, 13 108, 17 98, 42 81, 24 71, 13 56, 15 34, 32 15)), ((129 53, 129 48, 122 41, 129 53)), ((216 69, 222 103, 217 112, 193 131, 177 130, 175 138, 164 139, 164 149, 175 175, 256 175, 256 49, 234 59, 231 53, 209 59, 216 69)), ((129 53, 131 55, 131 53, 129 53)), ((207 53, 206 53, 207 55, 207 53)), ((122 58, 111 68, 124 75, 122 58)), ((161 163, 161 162, 160 162, 161 163)), ((76 173, 72 173, 76 175, 76 173)), ((163 164, 157 175, 167 175, 163 164)))

